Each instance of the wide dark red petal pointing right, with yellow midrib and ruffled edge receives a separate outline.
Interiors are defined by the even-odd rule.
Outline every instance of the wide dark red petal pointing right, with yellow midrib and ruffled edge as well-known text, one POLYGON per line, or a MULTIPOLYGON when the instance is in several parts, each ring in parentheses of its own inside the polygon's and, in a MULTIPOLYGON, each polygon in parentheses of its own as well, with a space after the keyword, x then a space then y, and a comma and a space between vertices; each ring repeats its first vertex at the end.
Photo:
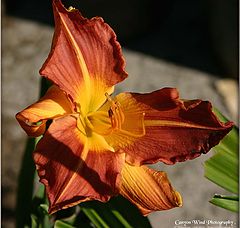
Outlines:
POLYGON ((209 102, 182 101, 172 88, 148 94, 122 93, 116 99, 123 112, 127 110, 125 123, 106 140, 115 150, 126 152, 126 160, 135 165, 157 161, 174 164, 196 158, 218 144, 233 126, 231 122, 221 123, 209 102), (140 129, 141 113, 145 134, 125 134, 134 123, 140 129))

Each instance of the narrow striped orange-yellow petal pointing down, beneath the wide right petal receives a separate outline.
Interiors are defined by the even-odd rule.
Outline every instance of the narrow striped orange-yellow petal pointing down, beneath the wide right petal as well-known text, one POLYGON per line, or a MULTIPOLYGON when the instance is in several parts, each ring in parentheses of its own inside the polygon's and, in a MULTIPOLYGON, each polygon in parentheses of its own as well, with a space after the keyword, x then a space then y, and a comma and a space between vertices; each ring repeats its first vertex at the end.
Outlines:
POLYGON ((181 195, 173 190, 166 173, 146 166, 125 164, 120 194, 135 204, 143 215, 182 206, 181 195))

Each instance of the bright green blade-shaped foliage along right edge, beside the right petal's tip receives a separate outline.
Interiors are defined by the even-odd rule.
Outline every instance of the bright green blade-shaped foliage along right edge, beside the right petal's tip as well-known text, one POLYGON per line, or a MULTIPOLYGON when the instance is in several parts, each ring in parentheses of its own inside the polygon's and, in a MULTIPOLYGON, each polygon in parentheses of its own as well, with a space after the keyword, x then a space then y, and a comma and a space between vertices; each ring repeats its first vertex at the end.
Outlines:
MULTIPOLYGON (((218 110, 215 109, 214 112, 223 122, 227 121, 218 110)), ((204 164, 205 177, 225 190, 238 194, 238 128, 234 126, 214 150, 216 154, 204 164)), ((210 202, 231 211, 238 211, 236 196, 215 195, 210 202)))

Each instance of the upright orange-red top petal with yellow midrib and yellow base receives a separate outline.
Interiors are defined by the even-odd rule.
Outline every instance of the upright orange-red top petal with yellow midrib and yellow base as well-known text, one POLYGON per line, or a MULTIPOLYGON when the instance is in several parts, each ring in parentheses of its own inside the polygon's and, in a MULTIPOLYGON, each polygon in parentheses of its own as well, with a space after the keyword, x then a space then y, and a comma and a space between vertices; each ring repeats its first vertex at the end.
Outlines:
POLYGON ((112 93, 112 86, 127 77, 120 44, 102 18, 86 19, 60 0, 53 1, 53 10, 52 49, 40 74, 67 92, 83 112, 96 110, 105 92, 112 93))

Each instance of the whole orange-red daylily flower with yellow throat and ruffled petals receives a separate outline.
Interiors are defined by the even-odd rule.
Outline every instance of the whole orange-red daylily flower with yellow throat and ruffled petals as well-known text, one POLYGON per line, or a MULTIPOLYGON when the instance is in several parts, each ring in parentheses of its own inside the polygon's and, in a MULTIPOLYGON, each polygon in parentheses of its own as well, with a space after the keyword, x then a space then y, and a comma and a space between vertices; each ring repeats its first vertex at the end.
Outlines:
POLYGON ((40 70, 53 85, 16 115, 29 136, 43 135, 33 157, 49 212, 117 194, 145 215, 181 206, 166 174, 146 164, 207 153, 232 123, 221 123, 207 101, 181 100, 174 88, 113 97, 114 85, 127 77, 113 30, 60 0, 53 9, 52 48, 40 70))

